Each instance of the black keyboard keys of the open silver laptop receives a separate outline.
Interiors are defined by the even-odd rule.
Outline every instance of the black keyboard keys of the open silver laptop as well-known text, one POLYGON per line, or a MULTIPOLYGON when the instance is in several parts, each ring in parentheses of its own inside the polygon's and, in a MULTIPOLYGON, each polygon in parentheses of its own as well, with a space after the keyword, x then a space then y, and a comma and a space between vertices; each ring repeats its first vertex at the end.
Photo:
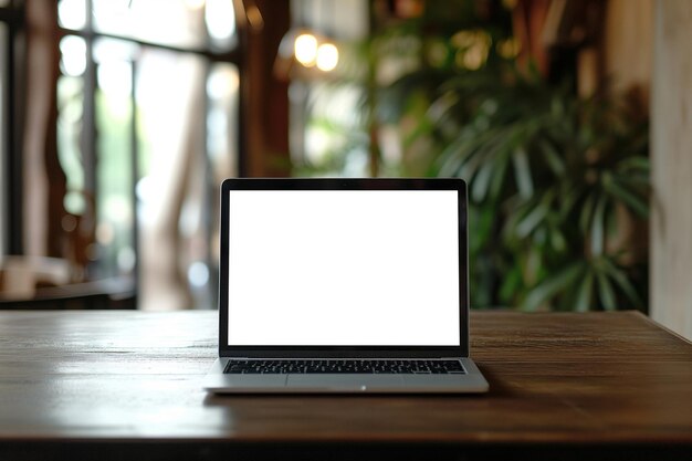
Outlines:
POLYGON ((231 360, 227 374, 415 374, 415 375, 463 375, 459 360, 289 360, 252 359, 231 360))

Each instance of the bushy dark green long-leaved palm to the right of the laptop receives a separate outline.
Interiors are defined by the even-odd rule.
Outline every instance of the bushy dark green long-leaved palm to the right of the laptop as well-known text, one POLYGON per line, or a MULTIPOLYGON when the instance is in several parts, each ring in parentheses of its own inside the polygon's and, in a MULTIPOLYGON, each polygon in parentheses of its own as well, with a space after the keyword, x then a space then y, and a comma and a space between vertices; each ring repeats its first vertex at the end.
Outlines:
POLYGON ((465 104, 472 91, 474 108, 430 172, 469 181, 485 300, 530 311, 642 308, 646 271, 617 241, 649 213, 646 121, 625 101, 583 101, 536 76, 484 82, 460 76, 441 87, 465 104))

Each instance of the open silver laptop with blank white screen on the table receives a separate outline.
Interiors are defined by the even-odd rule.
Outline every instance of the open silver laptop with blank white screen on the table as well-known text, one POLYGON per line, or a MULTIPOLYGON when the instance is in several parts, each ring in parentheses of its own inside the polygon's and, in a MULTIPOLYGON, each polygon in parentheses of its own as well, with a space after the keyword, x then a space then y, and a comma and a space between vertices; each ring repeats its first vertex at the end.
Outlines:
POLYGON ((484 392, 461 179, 227 179, 210 392, 484 392))

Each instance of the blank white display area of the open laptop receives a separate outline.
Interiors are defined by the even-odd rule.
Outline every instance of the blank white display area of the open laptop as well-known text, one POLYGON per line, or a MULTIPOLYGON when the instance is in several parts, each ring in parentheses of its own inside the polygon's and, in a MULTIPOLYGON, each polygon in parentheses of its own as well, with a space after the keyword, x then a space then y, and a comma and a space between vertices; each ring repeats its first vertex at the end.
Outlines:
POLYGON ((231 190, 229 346, 459 346, 454 190, 231 190))

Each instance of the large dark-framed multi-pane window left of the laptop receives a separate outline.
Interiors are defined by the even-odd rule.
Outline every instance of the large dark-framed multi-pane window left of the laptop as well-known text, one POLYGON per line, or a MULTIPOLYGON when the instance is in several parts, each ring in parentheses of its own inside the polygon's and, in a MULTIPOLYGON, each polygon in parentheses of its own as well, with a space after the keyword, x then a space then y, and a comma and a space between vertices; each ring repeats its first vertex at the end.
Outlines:
POLYGON ((238 163, 233 2, 61 0, 57 12, 65 230, 91 221, 93 235, 75 259, 90 279, 137 277, 143 308, 209 305, 216 184, 238 163))

